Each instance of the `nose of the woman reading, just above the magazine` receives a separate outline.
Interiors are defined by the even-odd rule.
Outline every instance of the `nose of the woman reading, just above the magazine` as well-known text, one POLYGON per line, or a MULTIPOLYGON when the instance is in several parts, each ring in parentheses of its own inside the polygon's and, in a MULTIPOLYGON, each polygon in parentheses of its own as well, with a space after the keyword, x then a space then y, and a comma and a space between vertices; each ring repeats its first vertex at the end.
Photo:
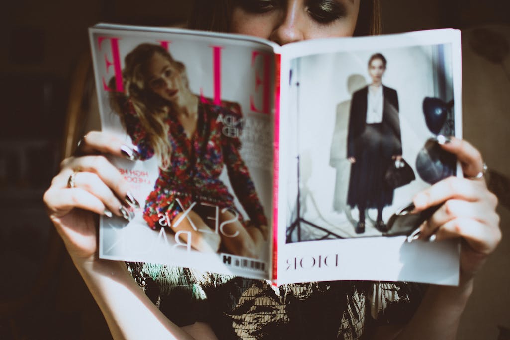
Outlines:
POLYGON ((304 40, 306 23, 303 6, 300 0, 289 0, 269 39, 279 45, 304 40))

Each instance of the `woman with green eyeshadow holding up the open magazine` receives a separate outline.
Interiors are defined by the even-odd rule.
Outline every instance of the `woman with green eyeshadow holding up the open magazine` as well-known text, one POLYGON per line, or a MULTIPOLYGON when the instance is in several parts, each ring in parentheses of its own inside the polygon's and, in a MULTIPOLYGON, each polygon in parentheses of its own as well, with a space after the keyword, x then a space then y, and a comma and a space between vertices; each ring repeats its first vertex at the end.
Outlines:
MULTIPOLYGON (((192 28, 255 35, 279 44, 380 32, 378 0, 195 3, 192 28)), ((442 204, 421 226, 420 239, 463 240, 461 282, 454 287, 336 281, 273 290, 265 281, 151 264, 126 268, 99 259, 94 214, 108 210, 120 216, 117 197, 129 192, 116 168, 96 154, 122 155, 122 142, 105 133, 86 135, 81 152, 89 155, 65 160, 44 200, 114 338, 453 339, 473 278, 501 233, 479 152, 459 139, 444 141, 442 147, 460 160, 465 178, 438 182, 417 194, 414 204, 417 212, 442 204)))

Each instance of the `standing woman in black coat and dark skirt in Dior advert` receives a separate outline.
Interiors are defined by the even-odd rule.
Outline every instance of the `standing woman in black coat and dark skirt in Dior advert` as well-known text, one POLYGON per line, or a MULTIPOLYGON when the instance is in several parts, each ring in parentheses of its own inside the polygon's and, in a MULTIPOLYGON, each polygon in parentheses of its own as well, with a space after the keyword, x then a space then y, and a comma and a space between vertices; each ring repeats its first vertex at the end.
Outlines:
POLYGON ((402 157, 397 91, 382 85, 387 61, 374 54, 368 61, 372 83, 353 93, 347 137, 351 163, 347 204, 358 206, 356 233, 365 232, 365 210, 377 208, 375 227, 386 232, 382 210, 393 203, 393 189, 385 182, 388 167, 402 157))

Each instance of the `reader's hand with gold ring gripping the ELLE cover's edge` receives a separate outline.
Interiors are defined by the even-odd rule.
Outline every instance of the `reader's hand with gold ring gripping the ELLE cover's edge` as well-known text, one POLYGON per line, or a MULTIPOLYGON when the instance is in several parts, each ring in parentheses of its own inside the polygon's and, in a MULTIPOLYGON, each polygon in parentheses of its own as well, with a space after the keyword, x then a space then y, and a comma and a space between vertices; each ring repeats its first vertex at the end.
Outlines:
POLYGON ((129 217, 129 206, 137 203, 119 171, 104 156, 126 156, 126 150, 129 152, 109 134, 88 133, 78 150, 83 155, 65 159, 44 193, 49 218, 73 260, 96 257, 95 214, 129 217))

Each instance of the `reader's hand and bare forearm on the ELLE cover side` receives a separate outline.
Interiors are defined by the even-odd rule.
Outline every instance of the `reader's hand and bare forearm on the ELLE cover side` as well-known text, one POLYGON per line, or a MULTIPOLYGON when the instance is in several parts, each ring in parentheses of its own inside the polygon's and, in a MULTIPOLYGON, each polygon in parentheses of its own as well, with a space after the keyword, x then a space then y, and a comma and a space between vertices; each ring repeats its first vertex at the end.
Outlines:
POLYGON ((78 152, 83 155, 62 162, 44 202, 113 338, 145 338, 147 329, 153 338, 194 339, 190 334, 216 338, 207 324, 184 330, 172 323, 140 289, 122 261, 98 259, 96 214, 129 219, 129 207, 138 203, 105 155, 134 159, 136 152, 114 136, 99 132, 88 133, 78 152))

